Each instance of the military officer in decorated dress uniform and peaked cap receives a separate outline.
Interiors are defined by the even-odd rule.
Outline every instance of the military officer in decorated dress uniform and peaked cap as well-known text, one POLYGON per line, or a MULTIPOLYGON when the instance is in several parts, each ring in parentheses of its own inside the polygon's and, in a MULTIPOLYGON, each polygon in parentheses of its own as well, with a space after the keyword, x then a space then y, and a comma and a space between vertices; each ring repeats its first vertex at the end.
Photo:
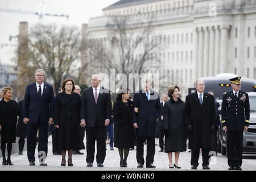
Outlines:
POLYGON ((248 94, 242 92, 241 77, 230 79, 232 91, 222 99, 222 127, 227 133, 229 170, 242 170, 243 131, 247 131, 250 119, 248 94))

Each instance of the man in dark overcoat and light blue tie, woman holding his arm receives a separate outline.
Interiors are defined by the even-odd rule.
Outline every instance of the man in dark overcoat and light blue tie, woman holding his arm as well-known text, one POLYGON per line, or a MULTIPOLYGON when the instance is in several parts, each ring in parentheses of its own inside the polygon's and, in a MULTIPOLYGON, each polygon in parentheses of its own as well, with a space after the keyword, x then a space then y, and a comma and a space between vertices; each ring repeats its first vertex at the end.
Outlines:
POLYGON ((160 100, 159 94, 151 89, 152 80, 143 82, 143 89, 134 95, 134 106, 137 118, 134 121, 134 127, 137 129, 137 162, 138 168, 143 168, 144 165, 144 141, 147 140, 147 156, 146 167, 155 168, 152 166, 155 155, 155 132, 156 119, 160 115, 160 100))

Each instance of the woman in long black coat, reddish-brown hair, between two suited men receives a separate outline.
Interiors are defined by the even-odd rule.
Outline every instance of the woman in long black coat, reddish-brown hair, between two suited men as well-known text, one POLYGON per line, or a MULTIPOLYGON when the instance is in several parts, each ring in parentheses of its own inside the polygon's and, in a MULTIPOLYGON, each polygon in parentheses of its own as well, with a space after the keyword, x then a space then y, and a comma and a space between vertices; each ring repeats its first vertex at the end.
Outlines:
POLYGON ((65 166, 65 155, 68 151, 68 166, 72 164, 73 150, 80 150, 81 131, 80 108, 81 99, 75 90, 74 81, 65 79, 62 84, 63 92, 57 94, 54 108, 54 125, 57 128, 58 151, 61 152, 61 166, 65 166))

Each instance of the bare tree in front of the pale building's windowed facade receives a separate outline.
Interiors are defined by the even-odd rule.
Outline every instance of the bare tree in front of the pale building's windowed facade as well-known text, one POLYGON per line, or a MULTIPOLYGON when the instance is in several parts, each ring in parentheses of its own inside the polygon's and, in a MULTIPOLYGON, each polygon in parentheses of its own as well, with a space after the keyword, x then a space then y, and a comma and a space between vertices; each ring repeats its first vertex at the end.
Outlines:
MULTIPOLYGON (((152 20, 134 19, 130 16, 113 16, 108 24, 110 36, 105 42, 90 39, 89 57, 93 67, 110 73, 148 73, 159 67, 156 52, 161 49, 157 36, 152 34, 152 20)), ((160 40, 159 40, 160 41, 160 40)))

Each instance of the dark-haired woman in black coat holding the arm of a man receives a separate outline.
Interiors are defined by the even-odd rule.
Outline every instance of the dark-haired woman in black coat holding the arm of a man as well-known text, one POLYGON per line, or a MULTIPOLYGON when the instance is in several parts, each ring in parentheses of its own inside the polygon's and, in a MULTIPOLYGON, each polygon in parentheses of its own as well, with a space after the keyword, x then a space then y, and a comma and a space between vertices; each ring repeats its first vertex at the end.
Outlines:
POLYGON ((120 167, 127 167, 127 157, 130 148, 134 148, 134 104, 130 100, 129 89, 121 89, 114 104, 114 121, 117 125, 114 136, 114 147, 118 148, 120 167), (123 157, 123 152, 125 156, 123 157))

